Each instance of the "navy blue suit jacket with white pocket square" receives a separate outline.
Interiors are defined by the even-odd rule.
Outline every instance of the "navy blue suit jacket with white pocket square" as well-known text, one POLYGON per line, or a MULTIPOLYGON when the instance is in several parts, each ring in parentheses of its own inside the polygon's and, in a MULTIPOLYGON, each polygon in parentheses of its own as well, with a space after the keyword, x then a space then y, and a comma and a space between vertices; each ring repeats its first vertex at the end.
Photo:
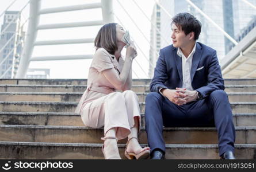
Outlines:
MULTIPOLYGON (((196 44, 190 77, 193 89, 200 92, 202 97, 205 98, 212 91, 224 90, 224 80, 216 50, 200 42, 196 44), (200 68, 202 69, 199 70, 200 68), (198 71, 196 71, 197 69, 198 71)), ((160 50, 154 77, 150 84, 151 92, 159 92, 160 88, 175 89, 176 87, 182 87, 182 58, 177 55, 177 50, 178 48, 174 48, 173 45, 160 50)))

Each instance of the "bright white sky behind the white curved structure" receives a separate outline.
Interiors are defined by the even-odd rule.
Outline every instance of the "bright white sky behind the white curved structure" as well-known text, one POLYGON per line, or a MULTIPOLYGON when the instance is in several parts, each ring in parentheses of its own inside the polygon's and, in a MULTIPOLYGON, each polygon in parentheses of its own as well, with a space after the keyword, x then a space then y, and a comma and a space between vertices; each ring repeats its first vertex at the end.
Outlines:
MULTIPOLYGON (((6 9, 13 0, 0 0, 0 13, 6 9)), ((154 0, 135 0, 147 17, 136 6, 133 0, 113 0, 115 21, 125 29, 129 30, 131 37, 136 42, 138 56, 133 61, 133 78, 147 78, 148 58, 150 50, 150 29, 151 23, 147 18, 151 18, 154 7, 154 0), (145 3, 146 2, 146 3, 145 3), (121 5, 120 5, 121 4, 121 5), (125 10, 124 10, 125 9, 125 10), (126 12, 127 11, 127 12, 126 12), (129 15, 128 15, 128 14, 129 15), (130 16, 130 17, 129 17, 130 16), (133 23, 135 22, 135 24, 133 23), (140 32, 143 32, 143 34, 140 32), (143 36, 144 35, 144 36, 143 36), (142 49, 140 51, 139 49, 142 49), (143 53, 142 53, 143 52, 143 53)), ((28 0, 17 0, 9 10, 20 10, 28 0)), ((41 9, 52 7, 80 5, 86 3, 99 2, 98 0, 41 0, 41 9)), ((29 17, 29 6, 22 12, 22 21, 29 17)), ((68 11, 63 13, 40 15, 40 24, 55 24, 64 22, 82 22, 101 20, 101 9, 68 11)), ((0 18, 2 24, 2 17, 0 18)), ((27 25, 24 30, 26 31, 27 25)), ((81 28, 49 29, 39 30, 36 41, 43 40, 65 40, 76 38, 95 38, 100 26, 90 26, 81 28)), ((94 54, 93 44, 68 44, 35 46, 32 57, 38 56, 61 56, 61 55, 81 55, 94 54)), ((125 49, 123 50, 125 55, 125 49)), ((86 79, 88 76, 91 60, 58 60, 58 61, 32 61, 29 68, 49 68, 51 79, 86 79)))

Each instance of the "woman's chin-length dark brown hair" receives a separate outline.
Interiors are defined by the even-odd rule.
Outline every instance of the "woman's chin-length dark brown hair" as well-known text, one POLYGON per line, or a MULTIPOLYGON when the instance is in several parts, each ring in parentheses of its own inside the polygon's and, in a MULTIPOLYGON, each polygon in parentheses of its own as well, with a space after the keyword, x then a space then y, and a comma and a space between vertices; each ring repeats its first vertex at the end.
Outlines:
POLYGON ((105 24, 99 30, 95 40, 94 46, 97 49, 104 48, 110 54, 114 54, 117 48, 116 38, 116 23, 105 24))

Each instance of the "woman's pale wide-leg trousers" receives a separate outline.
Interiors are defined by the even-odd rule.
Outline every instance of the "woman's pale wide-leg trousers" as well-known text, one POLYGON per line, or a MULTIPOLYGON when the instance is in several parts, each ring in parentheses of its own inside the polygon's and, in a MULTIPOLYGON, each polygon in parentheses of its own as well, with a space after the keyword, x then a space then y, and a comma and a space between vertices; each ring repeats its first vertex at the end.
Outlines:
POLYGON ((140 108, 138 97, 131 90, 112 92, 99 99, 86 103, 81 111, 81 118, 86 127, 101 128, 104 126, 104 135, 111 128, 117 128, 117 139, 124 139, 131 133, 135 117, 139 118, 140 108))

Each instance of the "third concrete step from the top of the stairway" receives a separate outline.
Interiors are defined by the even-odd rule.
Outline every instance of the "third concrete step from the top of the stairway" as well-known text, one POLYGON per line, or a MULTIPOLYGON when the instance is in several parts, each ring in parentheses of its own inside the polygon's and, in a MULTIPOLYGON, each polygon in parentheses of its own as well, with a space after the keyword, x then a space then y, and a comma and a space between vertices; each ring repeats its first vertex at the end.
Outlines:
MULTIPOLYGON (((82 92, 0 92, 2 101, 79 101, 82 92)), ((145 101, 148 93, 137 92, 139 101, 145 101)), ((228 93, 230 101, 256 101, 256 92, 228 93)))

